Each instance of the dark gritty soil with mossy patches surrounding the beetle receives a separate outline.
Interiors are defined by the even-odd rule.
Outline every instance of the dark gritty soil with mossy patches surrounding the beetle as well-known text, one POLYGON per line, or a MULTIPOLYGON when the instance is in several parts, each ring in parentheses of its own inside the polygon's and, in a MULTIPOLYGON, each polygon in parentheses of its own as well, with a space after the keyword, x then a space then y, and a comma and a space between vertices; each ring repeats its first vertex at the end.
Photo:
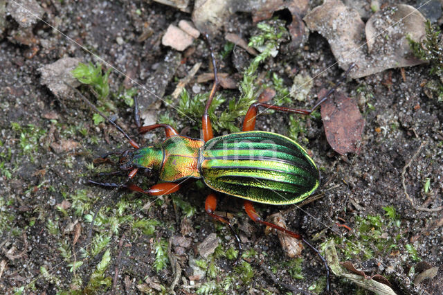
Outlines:
MULTIPOLYGON (((246 264, 233 267, 226 253, 237 249, 237 244, 226 226, 205 214, 204 197, 209 189, 201 183, 188 184, 172 196, 157 199, 87 184, 89 179, 117 182, 118 177, 98 177, 97 173, 109 166, 93 164, 93 160, 125 150, 129 144, 109 124, 95 125, 93 111, 80 98, 57 98, 42 85, 37 69, 62 57, 97 62, 74 44, 75 40, 144 87, 158 91, 162 88, 159 84, 165 84, 164 97, 168 98, 178 80, 197 62, 202 63, 197 75, 211 71, 208 48, 199 38, 191 46, 193 51, 178 55, 181 62, 172 76, 163 80, 156 76, 165 57, 178 54, 161 45, 165 28, 190 19, 190 14, 152 1, 43 1, 41 5, 43 19, 64 35, 37 21, 30 32, 38 42, 31 40, 26 46, 11 37, 19 26, 8 16, 0 39, 0 293, 168 294, 173 284, 177 294, 322 292, 325 270, 317 256, 305 249, 302 278, 294 278, 291 258, 285 256, 277 235, 265 235, 264 227, 248 219, 238 199, 222 197, 217 208, 221 214, 233 215, 234 227, 248 253, 246 264), (82 247, 88 242, 91 215, 102 199, 107 201, 93 231, 102 240, 95 241, 93 255, 85 256, 82 247), (197 212, 185 217, 177 199, 197 212), (149 231, 146 221, 152 222, 154 231, 149 231), (219 248, 204 259, 198 246, 210 233, 217 234, 219 248), (169 261, 157 270, 159 251, 168 257, 170 238, 176 242, 169 260, 177 262, 169 261), (192 267, 195 263, 200 267, 192 267), (206 270, 206 276, 197 274, 195 269, 199 268, 206 270)), ((241 60, 248 63, 252 56, 242 48, 224 58, 218 53, 224 51, 225 33, 248 39, 255 30, 251 14, 230 17, 212 39, 219 71, 230 73, 237 81, 242 79, 236 64, 241 60)), ((334 62, 327 41, 310 33, 306 45, 296 51, 283 44, 258 74, 278 73, 286 87, 291 87, 296 73, 314 77, 334 62)), ((331 88, 342 74, 332 66, 315 78, 307 100, 292 106, 314 105, 316 93, 331 88)), ((340 261, 351 261, 368 276, 381 274, 397 294, 443 294, 443 211, 437 210, 443 206, 442 103, 424 93, 422 82, 430 79, 428 65, 406 68, 404 77, 401 69, 390 69, 348 79, 341 86, 341 91, 356 100, 365 120, 358 154, 341 157, 327 143, 320 118, 300 119, 305 120, 305 134, 299 134, 299 141, 320 168, 321 186, 316 194, 323 195, 301 210, 263 204, 256 208, 263 216, 281 211, 288 228, 300 231, 315 247, 334 240, 340 261), (386 206, 393 206, 395 215, 386 215, 386 206), (355 248, 363 251, 358 253, 355 248), (440 269, 435 277, 413 284, 423 271, 423 262, 440 269)), ((122 91, 125 83, 124 75, 111 71, 111 93, 122 91)), ((211 82, 192 80, 188 91, 193 94, 197 88, 204 92, 210 87, 211 82), (191 89, 194 85, 197 87, 191 89)), ((179 132, 199 138, 197 121, 187 123, 172 107, 136 88, 143 105, 154 103, 154 118, 167 114, 177 121, 179 132)), ((91 97, 87 88, 81 91, 91 97)), ((238 97, 235 89, 222 92, 228 98, 238 97)), ((177 104, 177 100, 168 99, 177 104)), ((116 96, 109 100, 116 106, 117 122, 129 134, 136 134, 132 107, 116 96)), ((263 114, 257 118, 257 129, 288 135, 289 120, 283 113, 263 114)), ((236 125, 241 124, 239 118, 236 125)), ((226 130, 218 134, 223 132, 226 130)), ((164 134, 134 138, 148 145, 161 143, 164 134)), ((138 177, 136 181, 144 188, 155 182, 154 177, 146 179, 138 177)), ((336 294, 368 292, 343 277, 332 275, 331 279, 336 294)))

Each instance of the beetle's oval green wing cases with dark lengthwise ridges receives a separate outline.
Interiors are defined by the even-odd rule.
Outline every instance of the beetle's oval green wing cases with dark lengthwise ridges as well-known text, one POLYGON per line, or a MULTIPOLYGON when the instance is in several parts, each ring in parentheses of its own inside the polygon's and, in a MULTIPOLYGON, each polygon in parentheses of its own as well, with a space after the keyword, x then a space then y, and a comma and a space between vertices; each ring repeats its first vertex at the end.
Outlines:
POLYGON ((271 132, 210 139, 199 162, 210 188, 253 202, 294 204, 320 184, 318 169, 307 152, 295 141, 271 132))

